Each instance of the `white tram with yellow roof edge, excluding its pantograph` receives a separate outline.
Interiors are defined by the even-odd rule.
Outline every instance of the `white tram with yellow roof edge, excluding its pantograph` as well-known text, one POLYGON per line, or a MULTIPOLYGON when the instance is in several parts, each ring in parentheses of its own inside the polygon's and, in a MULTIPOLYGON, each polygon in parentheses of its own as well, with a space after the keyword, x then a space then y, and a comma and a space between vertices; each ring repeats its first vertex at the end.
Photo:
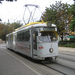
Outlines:
POLYGON ((57 28, 49 22, 31 22, 7 34, 6 44, 7 48, 33 59, 56 58, 58 56, 57 28))

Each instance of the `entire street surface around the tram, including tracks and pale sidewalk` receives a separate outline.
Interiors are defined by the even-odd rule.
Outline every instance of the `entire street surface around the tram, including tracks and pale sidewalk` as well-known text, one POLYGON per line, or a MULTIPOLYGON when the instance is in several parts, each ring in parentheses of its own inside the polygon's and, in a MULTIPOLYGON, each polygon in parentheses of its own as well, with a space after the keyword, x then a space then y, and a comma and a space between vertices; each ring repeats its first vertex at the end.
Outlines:
POLYGON ((58 61, 43 65, 0 44, 0 75, 75 75, 75 48, 58 49, 58 61))

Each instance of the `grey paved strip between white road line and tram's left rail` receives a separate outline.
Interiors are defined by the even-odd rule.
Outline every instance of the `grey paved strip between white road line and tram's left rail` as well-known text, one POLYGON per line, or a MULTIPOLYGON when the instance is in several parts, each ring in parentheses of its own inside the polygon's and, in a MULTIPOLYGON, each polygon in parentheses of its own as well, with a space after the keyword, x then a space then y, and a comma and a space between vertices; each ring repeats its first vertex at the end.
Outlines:
MULTIPOLYGON (((22 54, 17 53, 17 55, 16 55, 13 51, 8 51, 8 52, 12 53, 17 58, 19 58, 22 62, 29 65, 31 68, 35 69, 37 72, 41 73, 41 75, 54 75, 54 74, 67 75, 66 73, 64 73, 60 70, 57 70, 57 69, 50 67, 50 66, 48 67, 48 65, 41 64, 40 62, 32 60, 32 59, 30 59, 30 58, 28 58, 22 54)), ((52 63, 52 64, 54 64, 54 63, 52 63)))

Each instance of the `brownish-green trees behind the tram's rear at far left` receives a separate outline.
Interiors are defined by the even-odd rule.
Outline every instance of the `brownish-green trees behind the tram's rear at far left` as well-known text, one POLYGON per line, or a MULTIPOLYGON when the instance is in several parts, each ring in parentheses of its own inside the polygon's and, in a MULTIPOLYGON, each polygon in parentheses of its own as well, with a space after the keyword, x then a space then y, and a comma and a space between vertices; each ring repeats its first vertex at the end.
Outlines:
POLYGON ((0 24, 0 38, 2 40, 5 40, 6 39, 6 35, 11 33, 14 29, 18 28, 22 26, 22 24, 20 23, 7 23, 7 24, 0 24))

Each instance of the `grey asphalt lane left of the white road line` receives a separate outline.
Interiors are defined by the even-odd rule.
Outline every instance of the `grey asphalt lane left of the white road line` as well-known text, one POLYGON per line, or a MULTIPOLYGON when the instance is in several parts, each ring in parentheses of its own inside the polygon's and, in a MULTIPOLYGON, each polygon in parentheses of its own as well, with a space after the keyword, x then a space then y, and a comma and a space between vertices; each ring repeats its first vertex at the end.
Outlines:
POLYGON ((40 75, 0 45, 0 75, 40 75))

